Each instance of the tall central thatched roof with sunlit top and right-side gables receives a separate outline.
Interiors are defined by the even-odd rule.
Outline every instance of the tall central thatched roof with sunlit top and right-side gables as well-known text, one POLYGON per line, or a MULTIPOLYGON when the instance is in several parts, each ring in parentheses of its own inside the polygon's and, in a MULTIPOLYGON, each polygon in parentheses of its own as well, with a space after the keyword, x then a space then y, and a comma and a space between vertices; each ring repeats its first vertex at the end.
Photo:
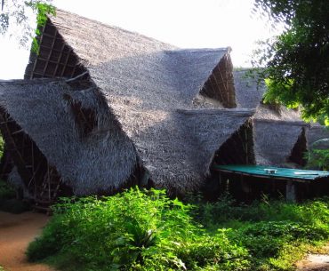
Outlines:
POLYGON ((59 76, 59 70, 75 76, 59 68, 61 57, 55 68, 46 61, 56 60, 58 50, 84 67, 157 187, 197 187, 214 152, 253 114, 219 110, 236 104, 229 48, 181 50, 63 11, 44 34, 42 57, 31 57, 26 77, 59 76), (205 86, 221 95, 208 95, 205 86))

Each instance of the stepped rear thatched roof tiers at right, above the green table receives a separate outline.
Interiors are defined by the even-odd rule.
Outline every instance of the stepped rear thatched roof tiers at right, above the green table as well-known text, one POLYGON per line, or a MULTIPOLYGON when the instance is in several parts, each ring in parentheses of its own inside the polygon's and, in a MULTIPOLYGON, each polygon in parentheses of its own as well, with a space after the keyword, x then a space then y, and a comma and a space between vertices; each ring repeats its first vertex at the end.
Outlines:
POLYGON ((298 110, 271 106, 261 102, 265 85, 246 76, 248 70, 235 71, 237 104, 242 108, 256 108, 253 116, 253 144, 256 163, 285 166, 294 145, 301 136, 302 122, 298 110))

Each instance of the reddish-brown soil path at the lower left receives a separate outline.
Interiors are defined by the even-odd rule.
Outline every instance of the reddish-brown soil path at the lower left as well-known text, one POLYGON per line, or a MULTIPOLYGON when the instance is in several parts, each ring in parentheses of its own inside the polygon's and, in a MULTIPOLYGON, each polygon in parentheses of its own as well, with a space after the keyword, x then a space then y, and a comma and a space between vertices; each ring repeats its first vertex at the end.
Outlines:
POLYGON ((0 211, 0 266, 5 271, 55 271, 51 267, 28 263, 28 243, 41 233, 48 217, 33 212, 12 214, 0 211))

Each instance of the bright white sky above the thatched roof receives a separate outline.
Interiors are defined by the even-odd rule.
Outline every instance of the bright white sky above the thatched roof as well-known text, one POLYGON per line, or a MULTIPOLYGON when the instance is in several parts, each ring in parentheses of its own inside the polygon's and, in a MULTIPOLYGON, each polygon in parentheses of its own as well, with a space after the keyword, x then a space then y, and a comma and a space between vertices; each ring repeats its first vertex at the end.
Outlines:
MULTIPOLYGON (((230 46, 235 67, 250 67, 254 43, 277 34, 252 15, 253 0, 53 0, 52 4, 181 48, 230 46)), ((14 36, 0 37, 0 79, 22 78, 28 55, 14 36)))

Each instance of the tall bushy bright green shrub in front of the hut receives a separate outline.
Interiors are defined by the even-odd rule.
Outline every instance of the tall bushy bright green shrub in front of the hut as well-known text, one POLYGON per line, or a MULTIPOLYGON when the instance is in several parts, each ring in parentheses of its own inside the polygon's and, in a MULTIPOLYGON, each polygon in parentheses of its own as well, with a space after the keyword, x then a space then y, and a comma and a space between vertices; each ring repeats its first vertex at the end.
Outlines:
POLYGON ((100 199, 63 199, 43 235, 29 245, 28 259, 55 255, 57 266, 73 270, 246 270, 247 251, 230 243, 225 231, 206 234, 190 209, 164 191, 138 188, 100 199))

